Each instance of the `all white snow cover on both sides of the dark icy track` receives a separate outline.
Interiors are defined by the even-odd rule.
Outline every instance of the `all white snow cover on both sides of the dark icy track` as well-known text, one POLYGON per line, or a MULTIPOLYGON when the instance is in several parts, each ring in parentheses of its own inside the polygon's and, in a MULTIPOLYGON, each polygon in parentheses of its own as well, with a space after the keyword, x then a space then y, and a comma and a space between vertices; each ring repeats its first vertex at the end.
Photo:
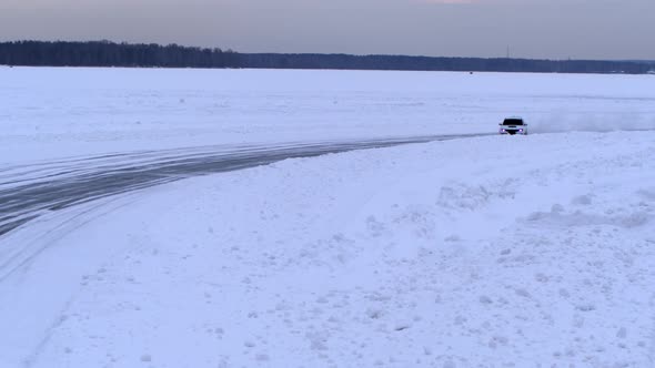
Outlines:
POLYGON ((0 237, 0 367, 655 366, 655 132, 616 131, 652 127, 648 76, 0 74, 3 163, 513 113, 578 131, 286 160, 46 215, 0 237))

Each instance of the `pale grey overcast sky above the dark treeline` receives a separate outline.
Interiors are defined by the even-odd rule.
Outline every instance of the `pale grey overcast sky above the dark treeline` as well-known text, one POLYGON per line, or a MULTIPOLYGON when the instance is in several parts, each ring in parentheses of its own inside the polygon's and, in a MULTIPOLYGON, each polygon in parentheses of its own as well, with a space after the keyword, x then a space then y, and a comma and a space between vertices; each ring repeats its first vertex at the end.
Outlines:
POLYGON ((655 0, 0 0, 0 39, 655 60, 655 0))

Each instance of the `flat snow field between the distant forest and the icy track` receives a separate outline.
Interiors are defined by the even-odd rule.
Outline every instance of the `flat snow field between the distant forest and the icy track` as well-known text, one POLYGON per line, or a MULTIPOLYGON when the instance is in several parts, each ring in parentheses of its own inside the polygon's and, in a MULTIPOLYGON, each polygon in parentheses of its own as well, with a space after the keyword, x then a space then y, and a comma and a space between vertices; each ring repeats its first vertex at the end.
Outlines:
POLYGON ((0 164, 495 132, 515 114, 531 133, 655 129, 653 76, 0 67, 0 164))

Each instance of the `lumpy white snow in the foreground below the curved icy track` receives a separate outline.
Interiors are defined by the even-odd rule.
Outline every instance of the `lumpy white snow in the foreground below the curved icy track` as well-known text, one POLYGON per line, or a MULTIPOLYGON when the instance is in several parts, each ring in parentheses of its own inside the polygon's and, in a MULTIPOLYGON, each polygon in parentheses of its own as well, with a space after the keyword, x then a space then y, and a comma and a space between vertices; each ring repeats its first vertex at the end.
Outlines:
POLYGON ((654 140, 288 160, 58 215, 2 244, 43 248, 0 284, 0 362, 652 366, 654 140))

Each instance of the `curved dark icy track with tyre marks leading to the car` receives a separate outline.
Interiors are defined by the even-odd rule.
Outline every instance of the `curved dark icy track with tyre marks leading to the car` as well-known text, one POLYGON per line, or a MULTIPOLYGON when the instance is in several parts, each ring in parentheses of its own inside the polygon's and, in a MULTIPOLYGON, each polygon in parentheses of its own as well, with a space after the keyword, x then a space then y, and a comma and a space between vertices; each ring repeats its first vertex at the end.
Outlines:
POLYGON ((481 135, 485 134, 268 146, 205 146, 7 167, 0 171, 0 235, 43 213, 194 175, 253 167, 291 157, 481 135))

